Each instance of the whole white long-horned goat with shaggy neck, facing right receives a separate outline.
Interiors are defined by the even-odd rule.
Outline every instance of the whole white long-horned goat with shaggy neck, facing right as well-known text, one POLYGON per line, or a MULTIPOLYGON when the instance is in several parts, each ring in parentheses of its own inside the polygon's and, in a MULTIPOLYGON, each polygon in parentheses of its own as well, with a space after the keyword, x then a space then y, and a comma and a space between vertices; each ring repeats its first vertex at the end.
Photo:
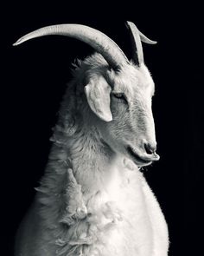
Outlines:
POLYGON ((16 239, 16 256, 166 256, 168 229, 139 167, 157 161, 154 82, 127 23, 133 60, 108 36, 80 24, 35 30, 14 45, 72 36, 97 51, 73 71, 51 138, 48 167, 16 239))

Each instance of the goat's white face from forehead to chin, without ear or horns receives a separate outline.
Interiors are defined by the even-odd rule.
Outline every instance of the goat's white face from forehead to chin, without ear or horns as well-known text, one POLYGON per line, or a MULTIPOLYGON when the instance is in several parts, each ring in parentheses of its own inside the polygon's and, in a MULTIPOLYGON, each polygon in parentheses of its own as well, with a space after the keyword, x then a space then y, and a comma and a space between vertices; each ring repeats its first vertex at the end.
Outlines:
POLYGON ((139 68, 127 66, 114 76, 113 84, 109 140, 138 166, 158 160, 151 110, 154 82, 148 69, 144 64, 139 68))

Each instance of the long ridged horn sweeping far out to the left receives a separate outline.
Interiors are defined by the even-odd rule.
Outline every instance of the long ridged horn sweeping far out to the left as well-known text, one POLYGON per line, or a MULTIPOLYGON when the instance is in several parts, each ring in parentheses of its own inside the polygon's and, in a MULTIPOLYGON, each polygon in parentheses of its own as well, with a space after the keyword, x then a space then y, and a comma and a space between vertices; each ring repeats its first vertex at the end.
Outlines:
POLYGON ((110 37, 99 30, 80 24, 59 24, 44 27, 22 36, 13 45, 18 45, 35 37, 49 35, 70 36, 88 43, 93 49, 104 56, 106 62, 108 62, 113 69, 118 68, 118 66, 125 62, 129 63, 122 49, 120 49, 117 43, 113 42, 110 37))

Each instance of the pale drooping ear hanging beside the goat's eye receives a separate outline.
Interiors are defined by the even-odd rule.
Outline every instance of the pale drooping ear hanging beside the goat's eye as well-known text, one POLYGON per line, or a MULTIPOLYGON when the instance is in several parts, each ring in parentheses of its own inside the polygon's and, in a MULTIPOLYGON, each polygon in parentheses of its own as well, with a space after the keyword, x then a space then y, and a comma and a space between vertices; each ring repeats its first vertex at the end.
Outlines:
POLYGON ((85 87, 87 102, 92 111, 104 121, 112 121, 110 85, 103 76, 94 77, 85 87))

